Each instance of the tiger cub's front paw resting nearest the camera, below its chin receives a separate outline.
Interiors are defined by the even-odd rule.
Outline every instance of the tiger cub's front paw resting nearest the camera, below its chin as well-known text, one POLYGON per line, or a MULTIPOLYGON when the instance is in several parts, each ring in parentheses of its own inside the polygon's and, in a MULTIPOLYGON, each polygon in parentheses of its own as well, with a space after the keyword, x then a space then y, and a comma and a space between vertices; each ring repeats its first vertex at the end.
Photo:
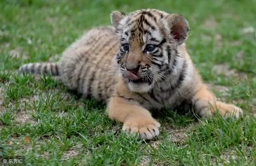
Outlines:
POLYGON ((124 122, 123 130, 137 133, 140 138, 150 140, 159 135, 159 127, 155 119, 149 117, 130 118, 124 122))

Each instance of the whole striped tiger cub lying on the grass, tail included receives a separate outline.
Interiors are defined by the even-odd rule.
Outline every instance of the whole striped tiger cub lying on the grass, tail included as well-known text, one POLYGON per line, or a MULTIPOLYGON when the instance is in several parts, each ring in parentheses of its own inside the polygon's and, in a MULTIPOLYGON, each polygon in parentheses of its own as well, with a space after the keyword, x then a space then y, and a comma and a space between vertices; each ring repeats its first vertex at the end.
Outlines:
POLYGON ((66 86, 107 103, 111 119, 144 139, 159 134, 148 110, 191 105, 201 117, 219 110, 238 117, 242 109, 217 101, 186 51, 188 21, 156 9, 114 11, 112 26, 95 27, 54 63, 30 63, 21 72, 60 75, 66 86))

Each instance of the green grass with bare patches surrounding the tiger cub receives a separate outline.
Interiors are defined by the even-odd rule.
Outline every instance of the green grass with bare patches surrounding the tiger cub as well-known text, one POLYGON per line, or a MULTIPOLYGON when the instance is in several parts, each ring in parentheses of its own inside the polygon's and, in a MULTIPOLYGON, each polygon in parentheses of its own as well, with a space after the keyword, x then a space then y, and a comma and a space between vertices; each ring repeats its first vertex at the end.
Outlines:
POLYGON ((190 23, 187 47, 210 88, 247 115, 256 111, 255 0, 2 0, 0 2, 0 156, 27 165, 256 164, 256 119, 197 119, 158 113, 160 136, 136 140, 51 76, 16 74, 26 62, 58 60, 84 30, 110 24, 110 12, 158 8, 190 23), (247 31, 246 31, 247 30, 247 31))

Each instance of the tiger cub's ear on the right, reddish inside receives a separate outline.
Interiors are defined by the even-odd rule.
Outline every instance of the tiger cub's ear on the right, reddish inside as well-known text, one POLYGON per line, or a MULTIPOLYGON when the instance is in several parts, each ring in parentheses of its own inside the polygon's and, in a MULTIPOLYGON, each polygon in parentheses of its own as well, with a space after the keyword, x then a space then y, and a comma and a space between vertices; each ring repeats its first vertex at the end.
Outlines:
POLYGON ((181 45, 188 37, 188 21, 181 14, 169 14, 166 20, 174 39, 181 45))

